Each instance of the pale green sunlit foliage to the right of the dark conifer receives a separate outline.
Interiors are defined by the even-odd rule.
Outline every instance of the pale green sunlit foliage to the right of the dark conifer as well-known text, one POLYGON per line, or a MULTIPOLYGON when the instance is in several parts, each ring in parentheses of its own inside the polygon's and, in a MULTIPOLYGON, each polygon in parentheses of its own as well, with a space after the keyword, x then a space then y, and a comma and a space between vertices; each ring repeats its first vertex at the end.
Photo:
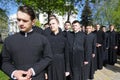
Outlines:
POLYGON ((120 0, 102 0, 100 3, 95 3, 94 23, 101 25, 116 25, 120 28, 120 0))

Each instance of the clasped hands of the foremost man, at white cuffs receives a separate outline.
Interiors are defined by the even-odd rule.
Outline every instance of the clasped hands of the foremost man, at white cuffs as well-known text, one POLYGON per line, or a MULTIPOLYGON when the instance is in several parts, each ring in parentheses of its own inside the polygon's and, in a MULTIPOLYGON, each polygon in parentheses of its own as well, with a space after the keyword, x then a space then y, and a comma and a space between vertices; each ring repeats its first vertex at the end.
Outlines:
POLYGON ((32 70, 28 69, 27 71, 24 70, 15 70, 13 76, 17 80, 31 80, 31 76, 33 75, 32 70))

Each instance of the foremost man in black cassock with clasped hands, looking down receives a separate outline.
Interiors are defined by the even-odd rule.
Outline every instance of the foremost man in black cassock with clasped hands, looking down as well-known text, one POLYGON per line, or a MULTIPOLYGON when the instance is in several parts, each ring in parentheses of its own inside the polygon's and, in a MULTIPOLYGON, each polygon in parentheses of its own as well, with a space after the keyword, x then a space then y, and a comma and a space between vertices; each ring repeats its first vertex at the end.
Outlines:
POLYGON ((29 6, 17 12, 20 32, 5 39, 2 70, 14 80, 45 80, 45 68, 52 60, 49 41, 32 29, 35 13, 29 6))

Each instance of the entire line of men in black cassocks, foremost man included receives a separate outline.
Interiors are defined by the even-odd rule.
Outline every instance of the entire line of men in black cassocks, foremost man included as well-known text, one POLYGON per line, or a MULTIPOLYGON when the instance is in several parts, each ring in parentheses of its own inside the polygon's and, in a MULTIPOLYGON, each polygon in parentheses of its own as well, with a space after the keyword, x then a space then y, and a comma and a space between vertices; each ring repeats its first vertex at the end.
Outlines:
POLYGON ((85 26, 84 32, 78 20, 72 24, 66 21, 65 31, 62 31, 58 19, 51 16, 49 27, 42 30, 32 26, 34 16, 29 11, 32 9, 28 6, 19 7, 17 20, 21 31, 8 37, 3 45, 2 70, 12 79, 94 79, 94 72, 102 69, 103 64, 116 63, 113 25, 107 33, 101 31, 98 24, 95 31, 91 25, 85 26), (26 25, 29 28, 24 30, 26 25), (70 26, 73 31, 69 31, 70 26))

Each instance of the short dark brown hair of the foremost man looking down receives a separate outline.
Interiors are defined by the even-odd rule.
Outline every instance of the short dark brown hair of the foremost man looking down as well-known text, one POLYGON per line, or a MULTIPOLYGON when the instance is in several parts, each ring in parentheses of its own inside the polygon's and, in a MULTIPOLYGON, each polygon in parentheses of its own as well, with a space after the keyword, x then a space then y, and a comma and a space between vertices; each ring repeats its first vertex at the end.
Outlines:
POLYGON ((31 20, 35 19, 35 13, 34 13, 33 9, 27 5, 19 6, 18 11, 22 11, 22 12, 30 15, 31 20))

